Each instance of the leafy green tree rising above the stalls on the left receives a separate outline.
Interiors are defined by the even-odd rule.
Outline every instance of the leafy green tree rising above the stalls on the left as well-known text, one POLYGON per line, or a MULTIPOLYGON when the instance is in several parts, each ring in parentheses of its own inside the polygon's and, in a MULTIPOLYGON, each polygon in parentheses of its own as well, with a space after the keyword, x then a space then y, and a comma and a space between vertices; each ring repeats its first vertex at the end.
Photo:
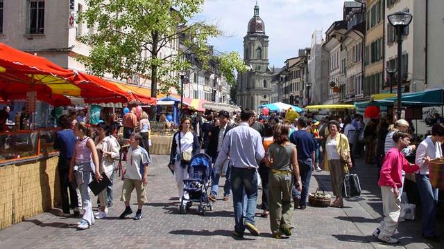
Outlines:
MULTIPOLYGON (((203 65, 210 59, 207 42, 222 35, 212 24, 190 20, 200 12, 205 0, 87 0, 87 10, 78 21, 85 21, 94 33, 80 37, 91 47, 89 56, 79 56, 92 73, 128 79, 137 74, 151 80, 151 97, 157 91, 167 93, 178 88, 175 73, 190 68, 183 55, 198 55, 203 65), (187 24, 189 21, 189 24, 187 24), (160 56, 162 48, 177 44, 183 49, 160 56)), ((214 59, 230 84, 235 84, 234 71, 246 66, 237 53, 221 53, 214 59)))

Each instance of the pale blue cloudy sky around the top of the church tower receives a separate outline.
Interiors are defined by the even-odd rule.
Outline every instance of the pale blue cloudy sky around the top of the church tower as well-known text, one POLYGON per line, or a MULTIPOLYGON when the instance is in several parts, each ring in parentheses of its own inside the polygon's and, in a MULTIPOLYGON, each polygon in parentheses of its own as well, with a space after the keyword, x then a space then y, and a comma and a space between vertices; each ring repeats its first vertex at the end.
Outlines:
MULTIPOLYGON (((284 61, 298 56, 298 49, 310 47, 314 30, 325 31, 342 19, 344 0, 258 0, 259 17, 268 35, 270 67, 282 67, 284 61)), ((237 51, 243 57, 243 41, 248 21, 253 17, 256 0, 205 0, 200 21, 217 24, 224 35, 210 39, 223 52, 237 51)))

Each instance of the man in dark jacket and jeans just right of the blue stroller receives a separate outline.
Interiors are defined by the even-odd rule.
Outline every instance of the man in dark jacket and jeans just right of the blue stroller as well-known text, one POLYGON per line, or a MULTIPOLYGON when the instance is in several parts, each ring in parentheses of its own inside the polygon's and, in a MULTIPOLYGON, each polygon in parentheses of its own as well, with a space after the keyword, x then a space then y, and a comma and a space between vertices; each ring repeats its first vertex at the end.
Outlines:
MULTIPOLYGON (((208 149, 207 154, 211 156, 213 162, 216 161, 217 156, 219 155, 219 151, 222 148, 223 138, 225 138, 225 134, 232 129, 231 125, 228 124, 230 120, 230 113, 228 111, 220 111, 219 112, 219 126, 215 126, 208 133, 208 149)), ((217 190, 219 189, 219 179, 221 169, 214 168, 212 183, 211 183, 211 192, 208 196, 210 201, 216 201, 217 190)), ((225 185, 223 186, 223 201, 228 201, 230 199, 230 167, 227 169, 225 185)))

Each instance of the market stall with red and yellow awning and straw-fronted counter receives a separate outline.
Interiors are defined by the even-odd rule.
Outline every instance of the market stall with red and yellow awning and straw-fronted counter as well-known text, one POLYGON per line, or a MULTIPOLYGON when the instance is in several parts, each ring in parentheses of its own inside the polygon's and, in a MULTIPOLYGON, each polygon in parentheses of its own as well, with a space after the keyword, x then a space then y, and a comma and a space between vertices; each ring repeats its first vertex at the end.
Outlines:
MULTIPOLYGON (((1 43, 0 95, 6 101, 24 100, 24 113, 31 124, 20 127, 20 113, 15 113, 15 122, 9 127, 1 124, 1 229, 60 204, 58 152, 53 149, 58 129, 36 123, 50 115, 46 103, 67 106, 72 104, 67 96, 82 98, 87 103, 117 103, 133 100, 133 96, 99 77, 66 70, 43 57, 1 43), (37 106, 40 103, 46 104, 42 105, 44 108, 37 106)), ((1 121, 6 122, 6 118, 1 121)))

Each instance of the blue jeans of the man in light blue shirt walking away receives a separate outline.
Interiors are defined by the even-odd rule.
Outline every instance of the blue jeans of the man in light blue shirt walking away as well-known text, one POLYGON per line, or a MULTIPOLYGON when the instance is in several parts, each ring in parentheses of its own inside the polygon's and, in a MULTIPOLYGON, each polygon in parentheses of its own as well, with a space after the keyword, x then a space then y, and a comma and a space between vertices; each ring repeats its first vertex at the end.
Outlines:
POLYGON ((255 225, 255 211, 257 205, 257 173, 256 169, 232 167, 231 169, 231 189, 233 192, 234 206, 234 230, 239 234, 244 234, 244 217, 242 215, 244 201, 244 189, 247 196, 247 209, 245 221, 255 225))

